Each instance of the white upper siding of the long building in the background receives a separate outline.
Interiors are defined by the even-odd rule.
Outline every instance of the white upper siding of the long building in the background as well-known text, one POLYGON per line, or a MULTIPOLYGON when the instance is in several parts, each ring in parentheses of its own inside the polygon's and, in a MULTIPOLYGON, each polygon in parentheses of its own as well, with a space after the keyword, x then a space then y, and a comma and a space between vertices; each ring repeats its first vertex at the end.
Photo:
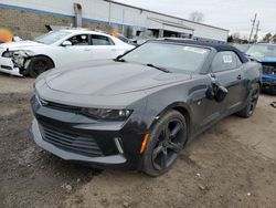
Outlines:
MULTIPOLYGON (((28 9, 42 10, 46 12, 60 13, 65 15, 74 15, 73 3, 81 3, 83 8, 83 18, 108 21, 109 20, 109 2, 103 0, 1 0, 0 3, 28 9)), ((227 31, 219 28, 198 24, 182 19, 171 18, 155 12, 129 8, 116 3, 112 3, 110 21, 127 25, 152 27, 152 21, 149 18, 161 19, 174 23, 181 23, 185 27, 194 29, 194 37, 215 39, 226 41, 227 31), (149 25, 150 24, 150 25, 149 25)), ((156 23, 156 27, 160 23, 156 23)))

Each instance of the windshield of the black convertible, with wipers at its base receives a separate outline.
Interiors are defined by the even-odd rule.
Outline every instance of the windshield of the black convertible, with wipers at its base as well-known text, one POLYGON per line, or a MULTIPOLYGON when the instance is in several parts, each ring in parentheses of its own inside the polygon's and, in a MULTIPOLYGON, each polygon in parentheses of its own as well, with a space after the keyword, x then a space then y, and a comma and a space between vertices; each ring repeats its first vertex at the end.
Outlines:
POLYGON ((193 73, 200 70, 209 49, 148 42, 123 56, 126 62, 150 64, 177 73, 193 73))

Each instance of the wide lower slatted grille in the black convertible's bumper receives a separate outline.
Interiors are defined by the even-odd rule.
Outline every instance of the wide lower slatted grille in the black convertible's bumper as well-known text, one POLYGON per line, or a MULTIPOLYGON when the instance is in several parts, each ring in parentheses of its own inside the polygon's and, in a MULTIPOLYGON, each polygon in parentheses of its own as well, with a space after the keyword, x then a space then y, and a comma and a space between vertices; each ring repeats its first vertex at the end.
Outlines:
POLYGON ((99 157, 104 155, 93 137, 84 137, 72 133, 61 132, 60 129, 46 127, 45 125, 42 126, 41 124, 40 131, 43 141, 61 149, 89 157, 99 157))

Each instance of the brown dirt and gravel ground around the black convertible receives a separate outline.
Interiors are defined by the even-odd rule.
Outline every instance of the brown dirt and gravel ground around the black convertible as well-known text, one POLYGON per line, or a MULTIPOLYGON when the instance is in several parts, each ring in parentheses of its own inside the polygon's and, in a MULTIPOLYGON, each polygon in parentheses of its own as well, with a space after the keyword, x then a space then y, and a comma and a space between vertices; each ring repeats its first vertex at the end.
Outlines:
POLYGON ((32 79, 0 74, 0 207, 269 207, 276 205, 276 97, 230 116, 158 178, 64 162, 29 135, 32 79))

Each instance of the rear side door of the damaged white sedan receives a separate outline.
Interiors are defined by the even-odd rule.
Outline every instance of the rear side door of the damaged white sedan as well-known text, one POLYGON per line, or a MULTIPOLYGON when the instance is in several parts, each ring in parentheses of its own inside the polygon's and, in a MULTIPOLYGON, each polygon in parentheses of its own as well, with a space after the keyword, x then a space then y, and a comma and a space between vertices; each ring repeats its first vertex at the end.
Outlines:
POLYGON ((91 45, 95 60, 115 59, 117 56, 118 48, 109 37, 91 34, 91 45))

